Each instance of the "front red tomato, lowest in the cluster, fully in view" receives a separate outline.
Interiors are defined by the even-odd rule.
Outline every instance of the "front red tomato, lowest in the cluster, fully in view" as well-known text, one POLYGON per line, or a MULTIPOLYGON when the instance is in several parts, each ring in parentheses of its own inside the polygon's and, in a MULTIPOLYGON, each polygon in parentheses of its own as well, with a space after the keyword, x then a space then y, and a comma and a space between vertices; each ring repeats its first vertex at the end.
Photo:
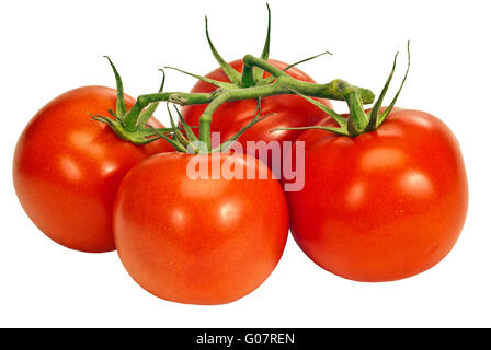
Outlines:
POLYGON ((136 165, 117 192, 113 225, 121 260, 161 299, 232 302, 256 289, 283 254, 288 208, 279 182, 252 156, 214 156, 221 167, 265 171, 267 179, 193 179, 192 162, 212 168, 213 156, 174 152, 136 165))

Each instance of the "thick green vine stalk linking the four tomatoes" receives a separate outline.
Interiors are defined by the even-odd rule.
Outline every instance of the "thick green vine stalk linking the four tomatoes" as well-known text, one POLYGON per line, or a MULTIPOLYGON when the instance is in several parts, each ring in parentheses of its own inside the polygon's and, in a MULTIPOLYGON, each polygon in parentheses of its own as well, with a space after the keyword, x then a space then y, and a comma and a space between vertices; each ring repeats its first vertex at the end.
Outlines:
MULTIPOLYGON (((254 68, 260 68, 267 71, 275 80, 269 84, 253 84, 249 88, 238 86, 235 84, 222 84, 217 90, 210 93, 183 93, 183 92, 161 92, 146 94, 138 96, 132 109, 124 115, 121 115, 123 109, 118 106, 121 118, 124 122, 112 125, 107 121, 121 137, 132 142, 142 142, 141 135, 147 133, 145 129, 146 121, 151 113, 155 110, 159 102, 169 102, 176 105, 201 105, 208 104, 203 115, 199 118, 199 141, 204 142, 208 151, 212 150, 210 140, 210 122, 215 110, 226 102, 240 101, 240 100, 256 100, 260 101, 263 97, 276 96, 276 95, 292 95, 301 94, 304 96, 330 98, 343 101, 350 98, 359 104, 362 109, 363 104, 369 104, 374 101, 374 94, 372 91, 363 88, 351 85, 343 80, 333 80, 327 84, 316 84, 296 80, 285 73, 284 70, 276 68, 262 58, 256 58, 251 55, 247 55, 243 58, 244 70, 249 72, 246 74, 250 79, 254 79, 254 68), (148 107, 150 105, 150 107, 148 107), (147 108, 147 109, 145 109, 147 108)), ((236 71, 237 72, 237 71, 236 71)), ((118 77, 116 77, 118 78, 118 77)), ((243 78, 243 77, 242 77, 243 78)), ((249 79, 247 78, 247 79, 249 79)), ((247 80, 246 79, 246 80, 247 80)), ((122 91, 121 79, 118 79, 118 88, 122 91)), ((347 101, 347 100, 346 100, 347 101)), ((365 121, 361 121, 359 125, 355 125, 354 132, 359 129, 359 126, 365 121)), ((350 126, 349 126, 350 129, 350 126)))

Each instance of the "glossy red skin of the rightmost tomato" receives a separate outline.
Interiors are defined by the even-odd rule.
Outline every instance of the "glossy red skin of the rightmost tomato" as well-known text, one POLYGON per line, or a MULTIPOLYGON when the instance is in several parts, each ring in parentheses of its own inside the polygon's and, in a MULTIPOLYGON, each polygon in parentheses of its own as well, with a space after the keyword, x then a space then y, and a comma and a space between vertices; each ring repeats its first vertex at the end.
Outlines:
POLYGON ((290 228, 320 267, 357 281, 422 272, 456 243, 468 207, 458 142, 436 117, 398 109, 373 132, 309 130, 305 187, 287 192, 290 228))

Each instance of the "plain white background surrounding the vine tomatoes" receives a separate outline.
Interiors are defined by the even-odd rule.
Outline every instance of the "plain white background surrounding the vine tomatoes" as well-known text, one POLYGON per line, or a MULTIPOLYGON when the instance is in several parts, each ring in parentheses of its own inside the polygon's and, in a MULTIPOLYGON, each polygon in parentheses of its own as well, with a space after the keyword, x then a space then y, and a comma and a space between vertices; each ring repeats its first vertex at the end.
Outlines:
MULTIPOLYGON (((330 275, 289 237, 276 270, 253 293, 228 305, 193 306, 144 291, 116 253, 69 250, 41 233, 15 198, 14 144, 30 118, 58 94, 88 84, 114 86, 103 55, 134 96, 157 90, 163 65, 202 74, 214 69, 205 14, 226 59, 260 55, 265 1, 1 2, 0 326, 490 327, 488 3, 270 0, 272 58, 293 62, 334 52, 301 66, 318 82, 342 78, 378 92, 400 50, 392 95, 411 39, 412 68, 398 105, 432 113, 456 133, 469 176, 467 223, 441 264, 390 283, 330 275)), ((168 70, 167 90, 186 91, 193 83, 168 70)), ((165 121, 163 108, 156 115, 165 121)))

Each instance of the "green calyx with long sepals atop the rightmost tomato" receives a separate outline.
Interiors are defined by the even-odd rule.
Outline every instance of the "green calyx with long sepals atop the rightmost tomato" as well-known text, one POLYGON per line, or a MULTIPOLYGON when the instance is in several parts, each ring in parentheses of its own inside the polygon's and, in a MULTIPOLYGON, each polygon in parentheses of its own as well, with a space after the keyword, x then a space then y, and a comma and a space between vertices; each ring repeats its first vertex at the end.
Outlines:
POLYGON ((367 113, 364 108, 364 102, 363 98, 359 95, 359 92, 357 89, 353 88, 349 83, 344 81, 339 81, 338 90, 340 90, 343 94, 344 101, 347 103, 350 107, 349 116, 341 116, 328 106, 319 103, 318 101, 310 98, 309 96, 302 94, 301 92, 293 90, 296 94, 304 97, 318 108, 326 112, 336 124, 338 127, 328 127, 328 126, 311 126, 311 127, 299 127, 299 128, 277 128, 274 130, 271 130, 271 132, 279 131, 279 130, 309 130, 309 129, 320 129, 330 131, 336 135, 341 136, 349 136, 349 137, 355 137, 361 133, 369 132, 376 130, 386 119, 387 116, 390 114, 392 108, 396 105, 396 102, 399 97, 400 92, 402 91, 402 86, 406 83, 406 79, 408 78, 409 68, 411 66, 411 55, 409 49, 409 42, 408 42, 408 67, 406 70, 404 78, 402 79, 402 82, 399 86, 398 92, 396 93, 395 97, 392 98, 390 105, 385 108, 381 112, 381 106, 384 103, 384 97, 387 94, 387 91, 389 89, 390 82, 392 81, 393 73, 396 71, 396 63, 397 63, 397 57, 399 52, 396 54, 393 58, 392 69, 390 71, 390 74, 384 85, 384 89, 381 90, 377 101, 374 104, 374 107, 367 113))

